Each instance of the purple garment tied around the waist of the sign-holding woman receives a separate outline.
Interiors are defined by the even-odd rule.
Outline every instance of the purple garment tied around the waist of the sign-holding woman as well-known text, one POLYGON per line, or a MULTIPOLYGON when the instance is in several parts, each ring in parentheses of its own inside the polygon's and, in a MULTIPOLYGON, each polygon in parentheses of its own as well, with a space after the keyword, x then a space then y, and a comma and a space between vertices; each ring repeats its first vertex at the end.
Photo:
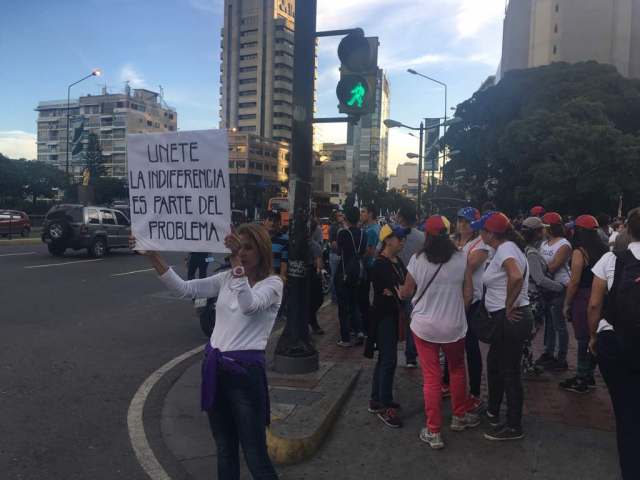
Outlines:
POLYGON ((246 375, 246 367, 256 366, 262 369, 262 374, 264 375, 266 424, 269 425, 271 415, 265 365, 264 350, 233 350, 221 352, 219 349, 213 348, 211 343, 207 342, 204 347, 204 359, 202 360, 202 384, 200 389, 200 405, 202 410, 209 411, 215 407, 218 387, 218 369, 232 375, 246 375))

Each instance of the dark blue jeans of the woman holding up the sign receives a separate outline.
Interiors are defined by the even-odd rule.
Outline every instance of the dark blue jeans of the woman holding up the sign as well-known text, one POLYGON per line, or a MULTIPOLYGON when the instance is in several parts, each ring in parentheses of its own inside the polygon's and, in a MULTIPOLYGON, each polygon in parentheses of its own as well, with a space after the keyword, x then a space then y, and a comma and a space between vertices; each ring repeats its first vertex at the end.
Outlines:
POLYGON ((240 478, 240 445, 254 479, 277 479, 267 453, 263 371, 246 368, 246 375, 219 371, 216 404, 208 412, 218 450, 218 479, 240 478))

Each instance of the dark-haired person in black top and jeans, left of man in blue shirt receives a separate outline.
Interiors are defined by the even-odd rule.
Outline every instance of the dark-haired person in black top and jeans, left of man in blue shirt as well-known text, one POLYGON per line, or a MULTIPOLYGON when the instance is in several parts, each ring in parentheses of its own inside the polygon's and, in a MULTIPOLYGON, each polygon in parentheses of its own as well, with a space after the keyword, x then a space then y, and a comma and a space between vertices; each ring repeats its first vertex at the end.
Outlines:
POLYGON ((351 347, 351 332, 364 338, 360 316, 358 315, 357 292, 359 286, 350 278, 349 273, 353 272, 353 267, 357 267, 358 260, 362 265, 364 254, 367 250, 367 239, 365 233, 356 225, 360 219, 360 211, 355 208, 348 208, 345 213, 345 227, 340 230, 336 237, 338 255, 341 259, 338 262, 338 269, 334 279, 336 294, 338 296, 338 318, 340 319, 340 341, 338 346, 351 347))

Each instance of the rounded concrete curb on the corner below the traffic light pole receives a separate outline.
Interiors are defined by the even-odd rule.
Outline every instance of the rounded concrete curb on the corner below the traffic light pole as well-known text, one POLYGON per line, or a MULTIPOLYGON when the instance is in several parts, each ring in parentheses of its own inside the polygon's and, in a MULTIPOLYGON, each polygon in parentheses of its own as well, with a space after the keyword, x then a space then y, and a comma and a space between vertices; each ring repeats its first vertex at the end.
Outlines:
POLYGON ((290 465, 307 460, 320 448, 360 375, 359 365, 334 364, 313 392, 324 398, 309 406, 298 405, 267 429, 269 456, 276 464, 290 465))

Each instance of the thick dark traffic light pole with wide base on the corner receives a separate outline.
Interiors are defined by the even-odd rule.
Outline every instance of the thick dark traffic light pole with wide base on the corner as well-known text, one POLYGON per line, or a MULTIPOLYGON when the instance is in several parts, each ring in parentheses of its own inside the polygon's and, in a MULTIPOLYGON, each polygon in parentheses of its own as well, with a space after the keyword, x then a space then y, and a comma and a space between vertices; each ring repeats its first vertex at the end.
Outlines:
POLYGON ((309 336, 309 218, 313 165, 313 97, 317 0, 296 0, 294 33, 293 120, 289 198, 287 322, 274 357, 281 373, 318 370, 318 352, 309 336), (290 207, 291 208, 291 207, 290 207))

